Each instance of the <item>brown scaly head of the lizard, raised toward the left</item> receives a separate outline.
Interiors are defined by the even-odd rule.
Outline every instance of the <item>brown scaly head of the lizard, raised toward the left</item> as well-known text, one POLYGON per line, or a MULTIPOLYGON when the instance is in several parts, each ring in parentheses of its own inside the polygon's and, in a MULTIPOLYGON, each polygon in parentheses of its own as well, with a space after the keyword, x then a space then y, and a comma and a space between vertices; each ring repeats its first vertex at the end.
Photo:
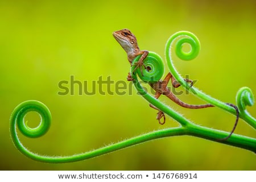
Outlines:
POLYGON ((115 31, 113 36, 126 52, 133 52, 138 48, 136 37, 128 29, 115 31))

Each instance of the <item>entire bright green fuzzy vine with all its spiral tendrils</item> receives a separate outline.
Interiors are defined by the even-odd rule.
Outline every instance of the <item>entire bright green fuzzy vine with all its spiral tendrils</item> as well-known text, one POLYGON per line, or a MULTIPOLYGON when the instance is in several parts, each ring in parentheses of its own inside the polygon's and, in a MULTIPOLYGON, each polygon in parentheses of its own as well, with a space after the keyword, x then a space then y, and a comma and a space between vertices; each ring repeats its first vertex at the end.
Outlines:
MULTIPOLYGON (((194 86, 191 88, 190 85, 184 81, 184 79, 177 73, 174 64, 171 59, 171 47, 172 44, 175 44, 175 52, 177 57, 181 60, 192 60, 198 55, 200 51, 200 43, 199 40, 193 35, 191 32, 181 31, 172 35, 170 39, 168 39, 166 44, 166 60, 168 64, 168 68, 170 72, 175 77, 177 81, 180 82, 185 89, 189 90, 189 92, 195 94, 197 97, 202 100, 220 107, 220 109, 226 110, 229 113, 236 115, 236 110, 233 107, 226 105, 224 102, 218 101, 215 98, 208 96, 207 94, 201 92, 199 89, 194 86), (184 52, 182 47, 184 43, 188 43, 191 46, 190 52, 184 52)), ((138 61, 139 56, 133 61, 135 63, 138 61)), ((149 140, 154 140, 163 137, 171 137, 177 135, 192 135, 195 137, 200 137, 208 140, 213 140, 214 142, 220 142, 229 144, 230 146, 244 148, 246 150, 250 150, 256 152, 256 139, 245 137, 243 135, 233 134, 228 140, 218 140, 220 138, 224 138, 229 133, 225 131, 215 130, 208 127, 203 127, 196 125, 195 123, 189 121, 187 118, 183 117, 183 115, 177 113, 167 105, 164 105, 159 100, 156 100, 153 96, 148 94, 143 86, 140 84, 138 80, 137 74, 141 78, 141 80, 146 81, 148 83, 154 83, 160 80, 163 76, 163 61, 159 55, 154 52, 150 52, 149 55, 144 60, 144 64, 146 67, 150 67, 150 69, 144 69, 143 74, 141 74, 138 69, 134 71, 134 67, 131 67, 131 73, 133 74, 133 83, 135 88, 148 102, 152 105, 158 107, 158 109, 162 110, 164 113, 168 114, 170 117, 174 118, 177 122, 180 123, 179 127, 168 128, 158 131, 152 131, 151 133, 139 135, 138 137, 130 138, 127 140, 123 140, 122 142, 114 143, 109 146, 105 146, 102 148, 98 148, 97 150, 85 152, 82 154, 76 154, 72 156, 46 156, 39 155, 32 151, 29 151, 23 144, 20 142, 17 135, 17 128, 20 132, 26 137, 36 138, 41 137, 46 134, 50 125, 51 125, 51 113, 46 105, 39 101, 25 101, 15 107, 13 113, 10 118, 10 134, 13 139, 14 145, 22 154, 26 155, 28 158, 38 160, 40 162, 48 162, 48 163, 67 163, 67 162, 75 162, 79 160, 85 160, 89 158, 94 158, 96 156, 104 155, 109 152, 113 152, 119 150, 121 148, 126 148, 129 146, 134 146, 135 144, 147 142, 149 140), (143 76, 142 76, 143 75, 143 76), (31 129, 28 127, 27 123, 24 121, 24 117, 30 111, 36 111, 41 116, 41 122, 38 127, 31 129)), ((248 111, 246 110, 246 106, 252 106, 254 104, 253 93, 249 88, 241 88, 238 90, 237 97, 237 106, 240 111, 240 118, 242 118, 245 122, 247 122, 254 129, 256 127, 256 119, 253 118, 248 111)))

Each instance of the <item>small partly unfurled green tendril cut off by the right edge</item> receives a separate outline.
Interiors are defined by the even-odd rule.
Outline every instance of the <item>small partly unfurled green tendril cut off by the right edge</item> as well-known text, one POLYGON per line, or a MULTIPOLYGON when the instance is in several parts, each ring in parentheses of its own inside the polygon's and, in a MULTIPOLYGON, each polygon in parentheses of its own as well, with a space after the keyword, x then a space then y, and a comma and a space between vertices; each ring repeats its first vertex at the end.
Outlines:
POLYGON ((253 92, 251 91, 250 88, 247 87, 242 87, 240 90, 237 92, 237 107, 239 109, 241 117, 245 119, 245 121, 256 128, 256 119, 253 118, 250 113, 246 110, 246 106, 253 106, 254 105, 254 97, 253 97, 253 92))

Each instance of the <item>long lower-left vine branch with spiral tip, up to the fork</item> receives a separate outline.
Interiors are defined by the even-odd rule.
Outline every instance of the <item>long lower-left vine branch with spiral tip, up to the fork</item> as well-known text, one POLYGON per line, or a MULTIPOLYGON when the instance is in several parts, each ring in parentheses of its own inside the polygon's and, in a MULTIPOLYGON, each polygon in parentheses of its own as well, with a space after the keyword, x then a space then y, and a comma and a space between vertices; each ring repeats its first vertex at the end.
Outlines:
MULTIPOLYGON (((109 146, 98 148, 97 150, 84 152, 82 154, 76 154, 71 156, 46 156, 46 155, 39 155, 34 152, 29 151, 26 147, 23 146, 23 144, 20 142, 17 131, 16 131, 16 125, 22 125, 24 116, 28 111, 36 111, 38 112, 41 117, 42 121, 39 125, 40 128, 40 136, 46 133, 48 130, 48 127, 51 123, 51 114, 49 113, 48 108, 46 105, 44 105, 42 102, 39 101, 25 101, 22 102, 20 105, 18 105, 14 112, 11 114, 10 119, 10 134, 11 138, 13 139, 14 145, 22 154, 26 155, 28 158, 38 160, 40 162, 47 162, 47 163, 68 163, 68 162, 76 162, 79 160, 85 160, 94 158, 96 156, 108 154, 110 152, 120 150, 122 148, 134 146, 135 144, 147 142, 149 140, 154 140, 158 138, 163 137, 171 137, 171 136, 177 136, 177 135, 185 135, 187 133, 187 130, 184 127, 176 127, 171 129, 164 129, 164 130, 158 130, 151 133, 139 135, 138 137, 130 138, 127 140, 123 140, 122 142, 110 144, 109 146), (45 109, 45 110, 44 110, 45 109), (42 112, 44 110, 44 112, 42 112), (44 115, 42 115, 44 113, 44 115), (48 122, 44 125, 43 122, 45 122, 45 119, 49 119, 48 122), (48 127, 42 127, 48 126, 48 127)), ((27 126, 25 127, 19 127, 20 131, 25 134, 27 137, 35 137, 32 136, 32 134, 35 133, 36 129, 30 129, 29 131, 26 131, 27 126)), ((38 137, 40 137, 38 135, 38 137)))

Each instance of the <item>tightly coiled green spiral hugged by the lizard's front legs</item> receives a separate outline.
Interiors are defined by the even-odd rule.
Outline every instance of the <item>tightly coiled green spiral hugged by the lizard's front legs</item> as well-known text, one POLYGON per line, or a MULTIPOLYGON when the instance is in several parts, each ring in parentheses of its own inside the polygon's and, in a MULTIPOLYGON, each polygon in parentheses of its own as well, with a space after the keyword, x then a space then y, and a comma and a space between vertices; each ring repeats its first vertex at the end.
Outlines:
MULTIPOLYGON (((141 55, 135 58, 135 61, 138 61, 141 55)), ((148 52, 146 59, 143 60, 143 63, 146 69, 143 69, 143 76, 141 71, 136 71, 142 81, 147 82, 148 84, 154 84, 158 82, 164 74, 164 64, 163 59, 155 52, 148 52)))

